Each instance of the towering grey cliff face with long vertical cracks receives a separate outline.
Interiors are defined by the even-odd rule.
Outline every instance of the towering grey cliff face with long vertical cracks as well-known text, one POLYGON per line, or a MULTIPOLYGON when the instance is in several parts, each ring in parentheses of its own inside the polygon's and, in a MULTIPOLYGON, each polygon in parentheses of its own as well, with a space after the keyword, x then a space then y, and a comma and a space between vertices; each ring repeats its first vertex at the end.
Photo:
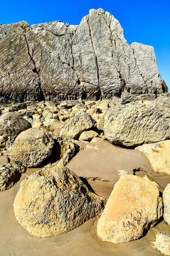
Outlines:
POLYGON ((91 9, 79 26, 0 26, 0 100, 98 100, 162 88, 153 47, 129 45, 103 9, 91 9))

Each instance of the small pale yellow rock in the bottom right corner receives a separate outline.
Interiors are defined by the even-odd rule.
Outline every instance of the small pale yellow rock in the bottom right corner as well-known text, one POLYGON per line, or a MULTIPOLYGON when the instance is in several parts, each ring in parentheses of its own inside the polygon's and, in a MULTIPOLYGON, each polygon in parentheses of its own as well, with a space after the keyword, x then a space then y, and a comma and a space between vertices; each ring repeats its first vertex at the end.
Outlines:
POLYGON ((150 241, 150 247, 159 251, 164 256, 170 256, 170 235, 158 232, 156 241, 150 241))

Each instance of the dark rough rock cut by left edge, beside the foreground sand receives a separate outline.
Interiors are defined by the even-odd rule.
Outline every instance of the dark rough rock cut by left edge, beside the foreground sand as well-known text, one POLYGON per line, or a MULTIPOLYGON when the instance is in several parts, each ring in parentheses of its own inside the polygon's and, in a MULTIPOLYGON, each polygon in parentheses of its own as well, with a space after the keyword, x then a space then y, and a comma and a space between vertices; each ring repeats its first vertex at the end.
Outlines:
POLYGON ((25 170, 21 166, 11 163, 3 163, 0 165, 0 191, 11 188, 20 180, 21 174, 25 170))

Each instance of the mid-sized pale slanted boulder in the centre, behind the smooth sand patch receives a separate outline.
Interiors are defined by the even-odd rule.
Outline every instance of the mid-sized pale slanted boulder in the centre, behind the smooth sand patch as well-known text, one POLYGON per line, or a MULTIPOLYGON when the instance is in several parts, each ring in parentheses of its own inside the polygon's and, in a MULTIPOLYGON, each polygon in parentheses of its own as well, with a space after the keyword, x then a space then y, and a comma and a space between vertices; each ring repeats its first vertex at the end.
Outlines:
POLYGON ((83 131, 94 128, 95 121, 89 113, 80 111, 60 131, 60 136, 76 140, 83 131))

